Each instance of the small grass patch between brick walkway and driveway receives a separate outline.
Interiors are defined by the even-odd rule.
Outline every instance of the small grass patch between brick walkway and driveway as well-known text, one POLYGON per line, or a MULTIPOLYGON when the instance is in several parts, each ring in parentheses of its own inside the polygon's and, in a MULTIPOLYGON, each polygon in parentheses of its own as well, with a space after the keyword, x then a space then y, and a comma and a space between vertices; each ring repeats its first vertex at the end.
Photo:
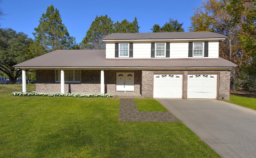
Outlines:
POLYGON ((139 111, 162 111, 168 112, 158 101, 153 98, 134 99, 139 111))

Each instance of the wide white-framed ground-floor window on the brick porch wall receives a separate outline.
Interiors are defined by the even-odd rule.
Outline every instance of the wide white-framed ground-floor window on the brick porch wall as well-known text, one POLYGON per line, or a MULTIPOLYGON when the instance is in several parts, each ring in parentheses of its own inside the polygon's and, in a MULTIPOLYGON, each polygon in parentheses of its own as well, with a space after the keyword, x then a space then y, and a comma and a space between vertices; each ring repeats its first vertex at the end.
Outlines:
MULTIPOLYGON (((55 70, 55 82, 60 83, 60 70, 55 70)), ((64 70, 65 83, 81 83, 81 70, 64 70), (72 80, 68 81, 68 71, 73 71, 72 80), (80 75, 76 76, 76 72, 79 72, 80 75)))

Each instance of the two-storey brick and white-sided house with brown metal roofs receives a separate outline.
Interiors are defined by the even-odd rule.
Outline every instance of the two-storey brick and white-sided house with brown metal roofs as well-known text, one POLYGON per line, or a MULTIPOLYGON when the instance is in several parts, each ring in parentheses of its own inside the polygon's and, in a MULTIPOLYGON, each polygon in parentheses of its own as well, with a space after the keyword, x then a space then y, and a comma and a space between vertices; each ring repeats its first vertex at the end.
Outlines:
MULTIPOLYGON (((17 64, 36 70, 36 91, 228 99, 230 69, 213 32, 115 33, 106 50, 56 50, 17 64)), ((26 92, 26 83, 23 85, 26 92)))

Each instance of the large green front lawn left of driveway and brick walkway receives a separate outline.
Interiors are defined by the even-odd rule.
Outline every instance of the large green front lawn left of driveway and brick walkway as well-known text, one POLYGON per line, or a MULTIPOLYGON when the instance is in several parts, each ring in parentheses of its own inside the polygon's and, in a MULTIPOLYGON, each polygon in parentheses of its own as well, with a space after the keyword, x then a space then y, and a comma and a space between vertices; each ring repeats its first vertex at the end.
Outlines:
POLYGON ((0 157, 220 157, 182 123, 118 122, 118 98, 0 98, 0 157))

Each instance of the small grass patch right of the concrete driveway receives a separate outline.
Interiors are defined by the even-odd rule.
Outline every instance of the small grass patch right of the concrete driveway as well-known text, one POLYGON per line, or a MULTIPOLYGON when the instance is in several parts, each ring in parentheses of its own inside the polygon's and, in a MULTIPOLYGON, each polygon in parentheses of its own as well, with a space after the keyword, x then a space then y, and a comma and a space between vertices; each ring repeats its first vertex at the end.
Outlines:
POLYGON ((246 94, 230 94, 230 103, 256 110, 256 97, 246 94))

